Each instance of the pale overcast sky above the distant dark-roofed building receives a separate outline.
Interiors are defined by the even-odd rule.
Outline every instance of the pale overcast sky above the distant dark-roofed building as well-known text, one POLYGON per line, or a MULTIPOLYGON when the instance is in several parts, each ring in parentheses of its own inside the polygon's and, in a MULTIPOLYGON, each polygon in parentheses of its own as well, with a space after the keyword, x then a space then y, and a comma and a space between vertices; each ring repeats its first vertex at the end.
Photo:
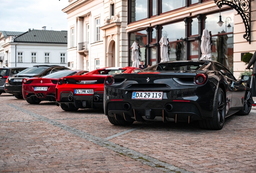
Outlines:
POLYGON ((68 0, 0 0, 0 30, 67 30, 68 0))

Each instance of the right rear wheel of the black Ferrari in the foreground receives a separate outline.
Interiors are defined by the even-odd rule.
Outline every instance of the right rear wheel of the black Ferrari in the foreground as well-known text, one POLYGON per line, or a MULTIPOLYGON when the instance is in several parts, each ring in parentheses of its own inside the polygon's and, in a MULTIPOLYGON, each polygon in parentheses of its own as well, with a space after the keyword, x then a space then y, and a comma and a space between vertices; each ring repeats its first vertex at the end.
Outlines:
POLYGON ((204 119, 199 121, 202 129, 221 130, 225 123, 226 100, 223 90, 218 88, 214 101, 213 119, 204 119))

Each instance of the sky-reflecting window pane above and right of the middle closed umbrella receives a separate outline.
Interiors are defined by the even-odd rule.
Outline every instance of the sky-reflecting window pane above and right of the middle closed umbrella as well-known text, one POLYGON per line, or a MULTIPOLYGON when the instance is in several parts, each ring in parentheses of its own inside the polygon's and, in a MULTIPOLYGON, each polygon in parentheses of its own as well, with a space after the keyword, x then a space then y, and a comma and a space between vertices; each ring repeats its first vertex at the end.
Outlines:
POLYGON ((169 42, 185 38, 185 23, 182 21, 173 24, 163 25, 161 29, 161 36, 169 38, 169 42))

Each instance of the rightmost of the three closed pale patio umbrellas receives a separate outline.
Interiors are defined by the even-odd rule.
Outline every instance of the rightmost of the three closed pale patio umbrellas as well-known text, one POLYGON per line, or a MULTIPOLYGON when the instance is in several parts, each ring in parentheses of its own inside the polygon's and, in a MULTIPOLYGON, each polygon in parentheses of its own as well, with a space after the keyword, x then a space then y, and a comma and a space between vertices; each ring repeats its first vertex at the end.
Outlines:
POLYGON ((211 60, 211 37, 207 29, 203 30, 202 38, 201 38, 201 52, 202 55, 200 57, 200 60, 211 60))

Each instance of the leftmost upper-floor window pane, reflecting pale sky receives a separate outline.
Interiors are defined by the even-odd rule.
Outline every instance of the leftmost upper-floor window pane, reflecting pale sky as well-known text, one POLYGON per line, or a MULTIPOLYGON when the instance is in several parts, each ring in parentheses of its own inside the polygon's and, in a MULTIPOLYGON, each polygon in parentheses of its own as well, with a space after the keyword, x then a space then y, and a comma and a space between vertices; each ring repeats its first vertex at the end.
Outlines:
POLYGON ((148 2, 145 0, 132 0, 131 2, 131 22, 147 18, 148 2))

